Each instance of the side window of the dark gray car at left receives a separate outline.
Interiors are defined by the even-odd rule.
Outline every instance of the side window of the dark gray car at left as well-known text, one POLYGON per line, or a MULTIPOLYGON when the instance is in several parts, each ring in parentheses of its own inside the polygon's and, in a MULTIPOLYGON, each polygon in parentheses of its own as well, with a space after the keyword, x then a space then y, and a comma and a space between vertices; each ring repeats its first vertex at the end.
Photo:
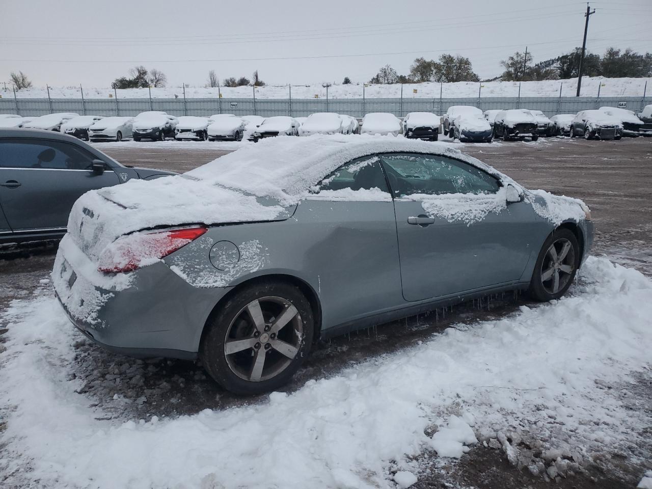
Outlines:
POLYGON ((0 168, 90 170, 95 157, 64 141, 5 140, 0 142, 0 168))

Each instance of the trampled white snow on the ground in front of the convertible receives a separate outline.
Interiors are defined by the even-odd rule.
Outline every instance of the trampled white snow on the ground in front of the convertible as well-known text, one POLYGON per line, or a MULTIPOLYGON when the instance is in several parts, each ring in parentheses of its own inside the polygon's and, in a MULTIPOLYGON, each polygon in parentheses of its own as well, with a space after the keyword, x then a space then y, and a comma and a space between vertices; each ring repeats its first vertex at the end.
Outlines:
POLYGON ((482 444, 542 477, 625 457, 649 487, 642 467, 651 468, 652 419, 637 387, 652 376, 651 296, 650 278, 589 258, 559 301, 458 323, 290 394, 170 418, 151 406, 140 419, 133 408, 142 398, 115 396, 115 417, 78 393, 76 348, 85 340, 44 283, 1 317, 3 484, 406 487, 421 476, 419 460, 482 444))

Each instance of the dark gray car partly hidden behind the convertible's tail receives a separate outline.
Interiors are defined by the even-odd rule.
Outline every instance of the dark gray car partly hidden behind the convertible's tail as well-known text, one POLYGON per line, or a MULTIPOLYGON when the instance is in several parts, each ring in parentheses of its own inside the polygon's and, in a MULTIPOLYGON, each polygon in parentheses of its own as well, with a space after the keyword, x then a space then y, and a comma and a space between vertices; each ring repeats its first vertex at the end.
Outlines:
POLYGON ((174 175, 129 168, 66 134, 0 129, 0 245, 60 239, 89 190, 174 175))

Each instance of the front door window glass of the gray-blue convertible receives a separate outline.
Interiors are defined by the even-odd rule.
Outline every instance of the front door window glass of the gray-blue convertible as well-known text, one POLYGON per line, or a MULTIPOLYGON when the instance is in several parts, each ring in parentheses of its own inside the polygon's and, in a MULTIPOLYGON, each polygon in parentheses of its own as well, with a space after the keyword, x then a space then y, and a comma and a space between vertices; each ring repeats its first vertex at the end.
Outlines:
POLYGON ((475 166, 439 155, 380 156, 394 197, 413 194, 494 194, 498 180, 475 166))

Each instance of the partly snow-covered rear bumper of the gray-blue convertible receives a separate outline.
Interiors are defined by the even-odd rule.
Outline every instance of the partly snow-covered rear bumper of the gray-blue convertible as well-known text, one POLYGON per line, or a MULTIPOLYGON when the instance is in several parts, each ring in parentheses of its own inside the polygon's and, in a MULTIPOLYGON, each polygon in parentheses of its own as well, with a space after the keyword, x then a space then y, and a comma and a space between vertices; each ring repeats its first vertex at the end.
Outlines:
POLYGON ((162 261, 116 274, 113 282, 115 275, 95 267, 65 236, 52 281, 68 318, 87 338, 131 356, 196 358, 205 321, 228 288, 195 288, 162 261))

